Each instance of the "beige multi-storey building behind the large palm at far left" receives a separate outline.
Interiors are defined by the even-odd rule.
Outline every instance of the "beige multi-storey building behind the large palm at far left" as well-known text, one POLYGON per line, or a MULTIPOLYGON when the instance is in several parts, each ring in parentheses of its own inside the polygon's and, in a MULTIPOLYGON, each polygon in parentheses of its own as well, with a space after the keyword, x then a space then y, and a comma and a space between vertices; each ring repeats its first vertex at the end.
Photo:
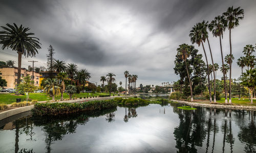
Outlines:
MULTIPOLYGON (((23 82, 23 77, 26 77, 27 75, 30 75, 31 80, 32 80, 33 72, 26 70, 25 68, 22 68, 22 71, 20 73, 21 82, 23 82)), ((4 87, 5 89, 8 89, 8 88, 14 89, 17 87, 17 79, 18 79, 18 68, 17 67, 0 68, 0 76, 7 81, 7 86, 4 87)), ((39 76, 40 76, 39 73, 34 72, 34 85, 35 86, 40 86, 39 76)))

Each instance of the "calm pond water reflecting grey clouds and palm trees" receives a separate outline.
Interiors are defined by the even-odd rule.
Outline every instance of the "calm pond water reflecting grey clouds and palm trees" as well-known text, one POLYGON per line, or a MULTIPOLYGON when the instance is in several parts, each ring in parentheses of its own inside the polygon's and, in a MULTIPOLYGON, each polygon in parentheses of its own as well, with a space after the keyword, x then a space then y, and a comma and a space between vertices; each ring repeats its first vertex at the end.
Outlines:
POLYGON ((255 112, 178 106, 23 117, 0 127, 0 152, 255 152, 255 112))

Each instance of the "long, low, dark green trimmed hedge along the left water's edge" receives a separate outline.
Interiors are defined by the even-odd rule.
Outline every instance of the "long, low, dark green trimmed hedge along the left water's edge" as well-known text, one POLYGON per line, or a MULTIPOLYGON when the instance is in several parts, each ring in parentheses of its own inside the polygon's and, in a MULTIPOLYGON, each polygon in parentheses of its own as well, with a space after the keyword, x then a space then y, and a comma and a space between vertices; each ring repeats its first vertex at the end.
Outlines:
POLYGON ((86 103, 36 103, 31 111, 33 115, 43 116, 104 110, 114 107, 117 107, 114 100, 94 100, 86 103))

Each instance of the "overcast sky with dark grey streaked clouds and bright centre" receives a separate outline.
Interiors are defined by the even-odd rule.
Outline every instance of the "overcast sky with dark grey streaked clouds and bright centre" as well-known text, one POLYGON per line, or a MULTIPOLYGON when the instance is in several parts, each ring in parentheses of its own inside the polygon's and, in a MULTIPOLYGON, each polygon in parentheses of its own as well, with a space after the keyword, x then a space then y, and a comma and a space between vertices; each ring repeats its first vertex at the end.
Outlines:
MULTIPOLYGON (((256 1, 6 1, 0 2, 0 25, 23 24, 40 39, 41 49, 33 58, 22 59, 22 67, 45 66, 48 47, 55 49, 54 58, 75 63, 78 69, 91 73, 91 82, 100 83, 100 76, 116 74, 116 83, 125 78, 123 72, 137 74, 136 85, 162 85, 174 82, 177 47, 191 44, 191 28, 203 20, 211 21, 228 7, 241 7, 245 17, 232 29, 232 52, 235 61, 242 56, 246 44, 256 43, 256 1)), ((2 30, 2 28, 0 28, 2 30)), ((224 56, 229 54, 229 33, 223 37, 224 56)), ((214 62, 221 65, 219 39, 209 33, 214 62)), ((2 45, 0 45, 2 47, 2 45)), ((207 45, 206 45, 207 46, 207 45)), ((200 54, 202 46, 195 44, 200 54)), ((210 61, 209 49, 206 47, 210 61)), ((204 55, 204 54, 203 54, 204 55)), ((203 56, 204 57, 204 56, 203 56)), ((203 58, 205 60, 205 57, 203 58)), ((0 48, 0 61, 17 61, 17 53, 0 48)), ((17 66, 17 62, 15 64, 17 66)), ((241 73, 232 64, 232 78, 241 73)), ((217 72, 217 78, 222 74, 217 72)))

